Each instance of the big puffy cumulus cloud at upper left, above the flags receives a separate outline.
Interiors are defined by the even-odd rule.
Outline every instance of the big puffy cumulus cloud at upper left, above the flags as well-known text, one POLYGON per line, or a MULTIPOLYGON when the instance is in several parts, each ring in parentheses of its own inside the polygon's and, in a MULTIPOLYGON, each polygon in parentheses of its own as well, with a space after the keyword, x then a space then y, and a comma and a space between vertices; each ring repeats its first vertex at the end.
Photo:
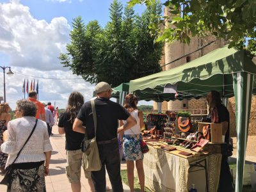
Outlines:
POLYGON ((0 51, 10 56, 10 65, 40 70, 64 70, 58 60, 69 41, 65 17, 47 23, 36 20, 19 1, 0 3, 0 51))

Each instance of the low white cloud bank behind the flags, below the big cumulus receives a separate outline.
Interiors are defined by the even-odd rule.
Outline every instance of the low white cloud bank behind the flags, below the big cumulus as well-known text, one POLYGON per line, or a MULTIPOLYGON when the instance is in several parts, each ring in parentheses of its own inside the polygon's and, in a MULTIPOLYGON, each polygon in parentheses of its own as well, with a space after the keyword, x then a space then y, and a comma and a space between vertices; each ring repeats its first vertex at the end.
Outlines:
MULTIPOLYGON (((15 108, 15 103, 19 99, 24 99, 24 93, 22 93, 22 86, 24 78, 29 80, 28 86, 31 84, 31 80, 35 79, 35 88, 38 78, 26 77, 21 74, 30 74, 38 77, 55 77, 55 78, 79 78, 74 76, 72 72, 63 72, 61 70, 51 70, 48 72, 35 70, 33 68, 21 68, 12 67, 14 74, 12 76, 6 75, 6 102, 10 103, 12 109, 15 108)), ((67 100, 71 92, 77 91, 84 95, 84 100, 90 100, 93 94, 94 85, 85 82, 83 79, 38 79, 39 85, 39 100, 42 102, 56 102, 56 106, 59 108, 65 108, 67 106, 67 100)), ((0 96, 3 95, 3 81, 0 81, 0 96)), ((28 95, 25 93, 25 98, 28 95)))

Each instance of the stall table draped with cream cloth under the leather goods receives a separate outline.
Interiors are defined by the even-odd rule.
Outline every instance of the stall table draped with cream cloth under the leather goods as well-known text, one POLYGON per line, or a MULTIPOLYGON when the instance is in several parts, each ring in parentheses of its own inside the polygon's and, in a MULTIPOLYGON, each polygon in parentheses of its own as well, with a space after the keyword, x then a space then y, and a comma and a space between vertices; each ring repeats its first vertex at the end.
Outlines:
POLYGON ((144 154, 143 166, 145 186, 150 190, 186 192, 195 184, 198 191, 206 191, 208 183, 208 191, 217 191, 221 154, 186 159, 161 148, 148 147, 150 150, 144 154))

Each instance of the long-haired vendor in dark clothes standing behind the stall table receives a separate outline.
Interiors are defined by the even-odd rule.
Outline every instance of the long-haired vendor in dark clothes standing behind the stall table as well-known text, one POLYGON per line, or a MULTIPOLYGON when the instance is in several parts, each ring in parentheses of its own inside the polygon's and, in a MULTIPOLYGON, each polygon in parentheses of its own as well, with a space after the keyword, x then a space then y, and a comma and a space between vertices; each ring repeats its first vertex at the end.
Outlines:
POLYGON ((219 192, 232 192, 233 180, 228 166, 228 156, 230 156, 230 150, 228 149, 230 130, 229 130, 229 113, 228 109, 223 106, 221 102, 221 96, 219 92, 211 91, 207 94, 207 102, 210 109, 210 120, 212 123, 222 124, 222 135, 225 135, 225 144, 221 144, 221 168, 220 168, 220 181, 219 192))

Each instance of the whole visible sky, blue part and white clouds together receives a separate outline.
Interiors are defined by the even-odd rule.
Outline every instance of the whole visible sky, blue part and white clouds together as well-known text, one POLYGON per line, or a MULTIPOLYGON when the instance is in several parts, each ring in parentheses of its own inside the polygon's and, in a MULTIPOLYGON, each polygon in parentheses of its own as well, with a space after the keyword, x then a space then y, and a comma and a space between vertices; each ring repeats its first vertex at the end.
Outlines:
MULTIPOLYGON (((85 100, 92 97, 95 85, 83 79, 72 79, 78 76, 68 68, 63 68, 58 56, 66 51, 72 19, 81 15, 85 24, 90 20, 98 20, 104 27, 109 21, 111 2, 112 0, 0 0, 0 66, 10 66, 14 72, 12 77, 6 76, 6 101, 12 108, 15 108, 18 99, 24 97, 24 79, 29 82, 38 80, 40 100, 56 102, 59 108, 65 108, 68 96, 73 91, 83 93, 85 100)), ((122 1, 123 5, 127 2, 122 1)), ((141 14, 145 8, 145 5, 136 5, 134 10, 141 14)), ((3 95, 2 79, 0 69, 0 96, 3 95)))

